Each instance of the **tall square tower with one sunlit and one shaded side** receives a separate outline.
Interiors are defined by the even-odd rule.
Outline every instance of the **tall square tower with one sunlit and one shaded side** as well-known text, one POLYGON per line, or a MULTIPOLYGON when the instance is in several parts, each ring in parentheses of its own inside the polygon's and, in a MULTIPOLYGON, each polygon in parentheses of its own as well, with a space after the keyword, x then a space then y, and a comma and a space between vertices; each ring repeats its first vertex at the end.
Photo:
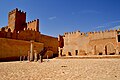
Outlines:
POLYGON ((18 10, 18 8, 12 10, 8 14, 8 28, 11 29, 11 32, 21 31, 26 28, 26 12, 18 10))

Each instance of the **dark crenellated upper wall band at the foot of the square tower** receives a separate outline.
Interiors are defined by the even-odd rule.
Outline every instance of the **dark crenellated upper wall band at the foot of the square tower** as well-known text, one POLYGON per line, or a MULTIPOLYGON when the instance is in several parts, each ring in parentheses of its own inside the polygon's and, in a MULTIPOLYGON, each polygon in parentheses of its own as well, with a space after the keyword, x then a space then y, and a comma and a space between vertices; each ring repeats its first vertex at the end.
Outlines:
POLYGON ((40 33, 36 32, 35 30, 32 29, 24 29, 23 31, 14 31, 11 32, 11 29, 9 28, 7 31, 3 27, 0 31, 0 38, 9 38, 9 39, 19 39, 19 40, 35 40, 39 41, 39 36, 40 33))

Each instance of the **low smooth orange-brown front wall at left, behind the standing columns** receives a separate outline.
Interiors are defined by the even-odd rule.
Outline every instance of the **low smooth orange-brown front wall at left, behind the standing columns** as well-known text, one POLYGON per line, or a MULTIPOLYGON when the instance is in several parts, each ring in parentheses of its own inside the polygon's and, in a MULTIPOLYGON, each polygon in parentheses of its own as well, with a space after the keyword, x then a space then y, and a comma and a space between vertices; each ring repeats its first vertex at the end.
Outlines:
MULTIPOLYGON (((38 53, 41 52, 43 48, 43 43, 34 42, 34 50, 37 50, 38 53)), ((29 41, 0 38, 0 61, 18 60, 20 56, 27 57, 29 50, 29 41)))

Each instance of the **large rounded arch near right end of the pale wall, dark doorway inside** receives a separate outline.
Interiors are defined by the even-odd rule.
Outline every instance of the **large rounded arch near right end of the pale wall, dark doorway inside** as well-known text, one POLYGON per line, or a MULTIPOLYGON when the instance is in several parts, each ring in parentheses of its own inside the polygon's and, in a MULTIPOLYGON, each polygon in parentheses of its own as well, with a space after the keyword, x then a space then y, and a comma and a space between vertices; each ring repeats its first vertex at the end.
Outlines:
POLYGON ((114 48, 113 44, 108 43, 105 46, 105 54, 106 55, 114 55, 115 54, 115 48, 114 48))

